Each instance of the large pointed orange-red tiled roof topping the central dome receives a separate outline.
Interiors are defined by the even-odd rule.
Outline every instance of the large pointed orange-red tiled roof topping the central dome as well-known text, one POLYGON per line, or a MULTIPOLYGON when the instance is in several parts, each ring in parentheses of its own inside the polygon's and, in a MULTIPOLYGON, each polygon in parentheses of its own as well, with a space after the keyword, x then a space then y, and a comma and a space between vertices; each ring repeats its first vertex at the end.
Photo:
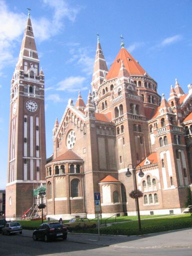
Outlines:
POLYGON ((146 73, 130 53, 125 48, 121 48, 106 75, 107 80, 118 76, 121 60, 129 74, 144 75, 146 73))

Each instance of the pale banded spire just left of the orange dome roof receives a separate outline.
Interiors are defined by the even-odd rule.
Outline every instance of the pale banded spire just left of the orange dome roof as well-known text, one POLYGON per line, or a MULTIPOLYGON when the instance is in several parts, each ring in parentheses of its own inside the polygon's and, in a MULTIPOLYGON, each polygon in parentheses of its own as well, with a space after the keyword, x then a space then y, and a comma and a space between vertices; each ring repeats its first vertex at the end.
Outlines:
POLYGON ((96 55, 94 60, 92 82, 91 82, 92 91, 97 91, 99 85, 102 83, 102 81, 104 80, 108 72, 106 61, 104 59, 102 48, 99 42, 99 34, 96 33, 96 35, 97 35, 97 45, 96 45, 96 55))

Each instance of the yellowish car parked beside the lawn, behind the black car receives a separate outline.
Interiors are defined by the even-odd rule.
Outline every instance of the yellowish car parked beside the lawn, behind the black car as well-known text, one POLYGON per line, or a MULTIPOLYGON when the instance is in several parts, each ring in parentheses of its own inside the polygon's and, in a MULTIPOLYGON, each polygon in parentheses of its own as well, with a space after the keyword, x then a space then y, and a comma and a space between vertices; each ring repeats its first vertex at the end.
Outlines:
POLYGON ((64 224, 68 230, 72 230, 74 228, 96 227, 96 221, 89 220, 85 217, 71 218, 69 222, 64 224))

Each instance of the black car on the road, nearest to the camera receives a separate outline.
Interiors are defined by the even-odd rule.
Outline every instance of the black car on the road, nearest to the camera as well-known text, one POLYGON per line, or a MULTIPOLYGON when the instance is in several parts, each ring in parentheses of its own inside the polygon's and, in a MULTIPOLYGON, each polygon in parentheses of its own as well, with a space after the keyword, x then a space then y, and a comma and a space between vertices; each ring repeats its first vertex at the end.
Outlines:
POLYGON ((32 239, 34 241, 37 239, 43 239, 45 242, 48 242, 51 239, 59 237, 63 240, 67 237, 67 229, 60 222, 42 223, 32 233, 32 239))

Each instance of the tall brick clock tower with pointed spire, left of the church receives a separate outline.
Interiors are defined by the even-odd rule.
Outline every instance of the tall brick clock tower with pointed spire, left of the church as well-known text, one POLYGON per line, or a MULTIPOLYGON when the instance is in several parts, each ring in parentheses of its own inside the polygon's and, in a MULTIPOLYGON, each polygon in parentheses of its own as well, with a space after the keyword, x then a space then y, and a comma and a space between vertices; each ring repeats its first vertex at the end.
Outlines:
POLYGON ((33 189, 45 183, 45 163, 44 74, 28 12, 10 88, 6 218, 20 218, 32 206, 33 189))

